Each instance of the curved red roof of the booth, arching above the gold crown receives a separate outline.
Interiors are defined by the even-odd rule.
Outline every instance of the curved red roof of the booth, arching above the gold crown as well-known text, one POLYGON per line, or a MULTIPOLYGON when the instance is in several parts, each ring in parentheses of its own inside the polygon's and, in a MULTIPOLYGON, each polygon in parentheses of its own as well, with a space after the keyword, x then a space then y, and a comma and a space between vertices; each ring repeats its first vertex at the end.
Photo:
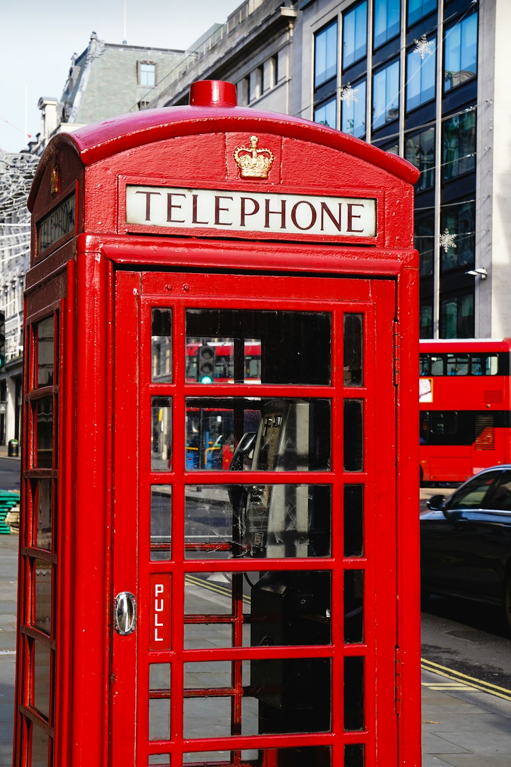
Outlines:
POLYGON ((254 133, 255 130, 330 146, 332 149, 360 157, 411 184, 420 176, 415 166, 397 155, 378 149, 377 146, 347 133, 300 117, 247 107, 164 107, 113 117, 102 123, 87 125, 73 133, 57 133, 41 156, 28 196, 28 209, 32 210, 34 207, 45 168, 51 163, 55 153, 64 146, 74 149, 84 166, 88 166, 136 146, 164 139, 201 133, 254 133))

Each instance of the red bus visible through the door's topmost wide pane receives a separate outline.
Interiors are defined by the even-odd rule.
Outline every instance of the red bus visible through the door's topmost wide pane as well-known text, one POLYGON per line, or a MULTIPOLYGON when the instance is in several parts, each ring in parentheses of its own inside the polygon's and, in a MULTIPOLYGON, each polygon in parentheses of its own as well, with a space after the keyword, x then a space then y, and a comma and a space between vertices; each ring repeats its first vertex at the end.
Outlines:
MULTIPOLYGON (((221 338, 213 341, 206 339, 211 347, 214 360, 212 364, 212 380, 218 384, 234 383, 234 352, 235 344, 232 338, 221 338)), ((199 350, 206 344, 200 341, 186 344, 186 383, 193 384, 201 380, 199 371, 199 350)), ((244 381, 250 384, 260 384, 260 341, 244 341, 244 381)))

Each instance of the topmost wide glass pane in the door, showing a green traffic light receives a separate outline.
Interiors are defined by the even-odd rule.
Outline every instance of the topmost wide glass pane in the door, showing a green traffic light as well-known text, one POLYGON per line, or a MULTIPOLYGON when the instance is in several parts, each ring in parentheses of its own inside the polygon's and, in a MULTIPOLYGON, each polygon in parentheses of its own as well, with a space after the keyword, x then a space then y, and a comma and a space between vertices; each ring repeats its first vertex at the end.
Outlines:
POLYGON ((330 347, 328 312, 186 311, 188 383, 328 385, 330 347))

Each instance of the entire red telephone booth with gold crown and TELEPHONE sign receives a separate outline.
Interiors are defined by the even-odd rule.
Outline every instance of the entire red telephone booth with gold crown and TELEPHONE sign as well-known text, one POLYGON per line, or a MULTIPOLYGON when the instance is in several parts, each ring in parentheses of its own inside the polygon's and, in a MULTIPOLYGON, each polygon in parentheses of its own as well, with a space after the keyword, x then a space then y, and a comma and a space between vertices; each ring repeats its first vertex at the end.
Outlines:
POLYGON ((191 105, 29 199, 14 764, 420 764, 404 160, 191 105))

